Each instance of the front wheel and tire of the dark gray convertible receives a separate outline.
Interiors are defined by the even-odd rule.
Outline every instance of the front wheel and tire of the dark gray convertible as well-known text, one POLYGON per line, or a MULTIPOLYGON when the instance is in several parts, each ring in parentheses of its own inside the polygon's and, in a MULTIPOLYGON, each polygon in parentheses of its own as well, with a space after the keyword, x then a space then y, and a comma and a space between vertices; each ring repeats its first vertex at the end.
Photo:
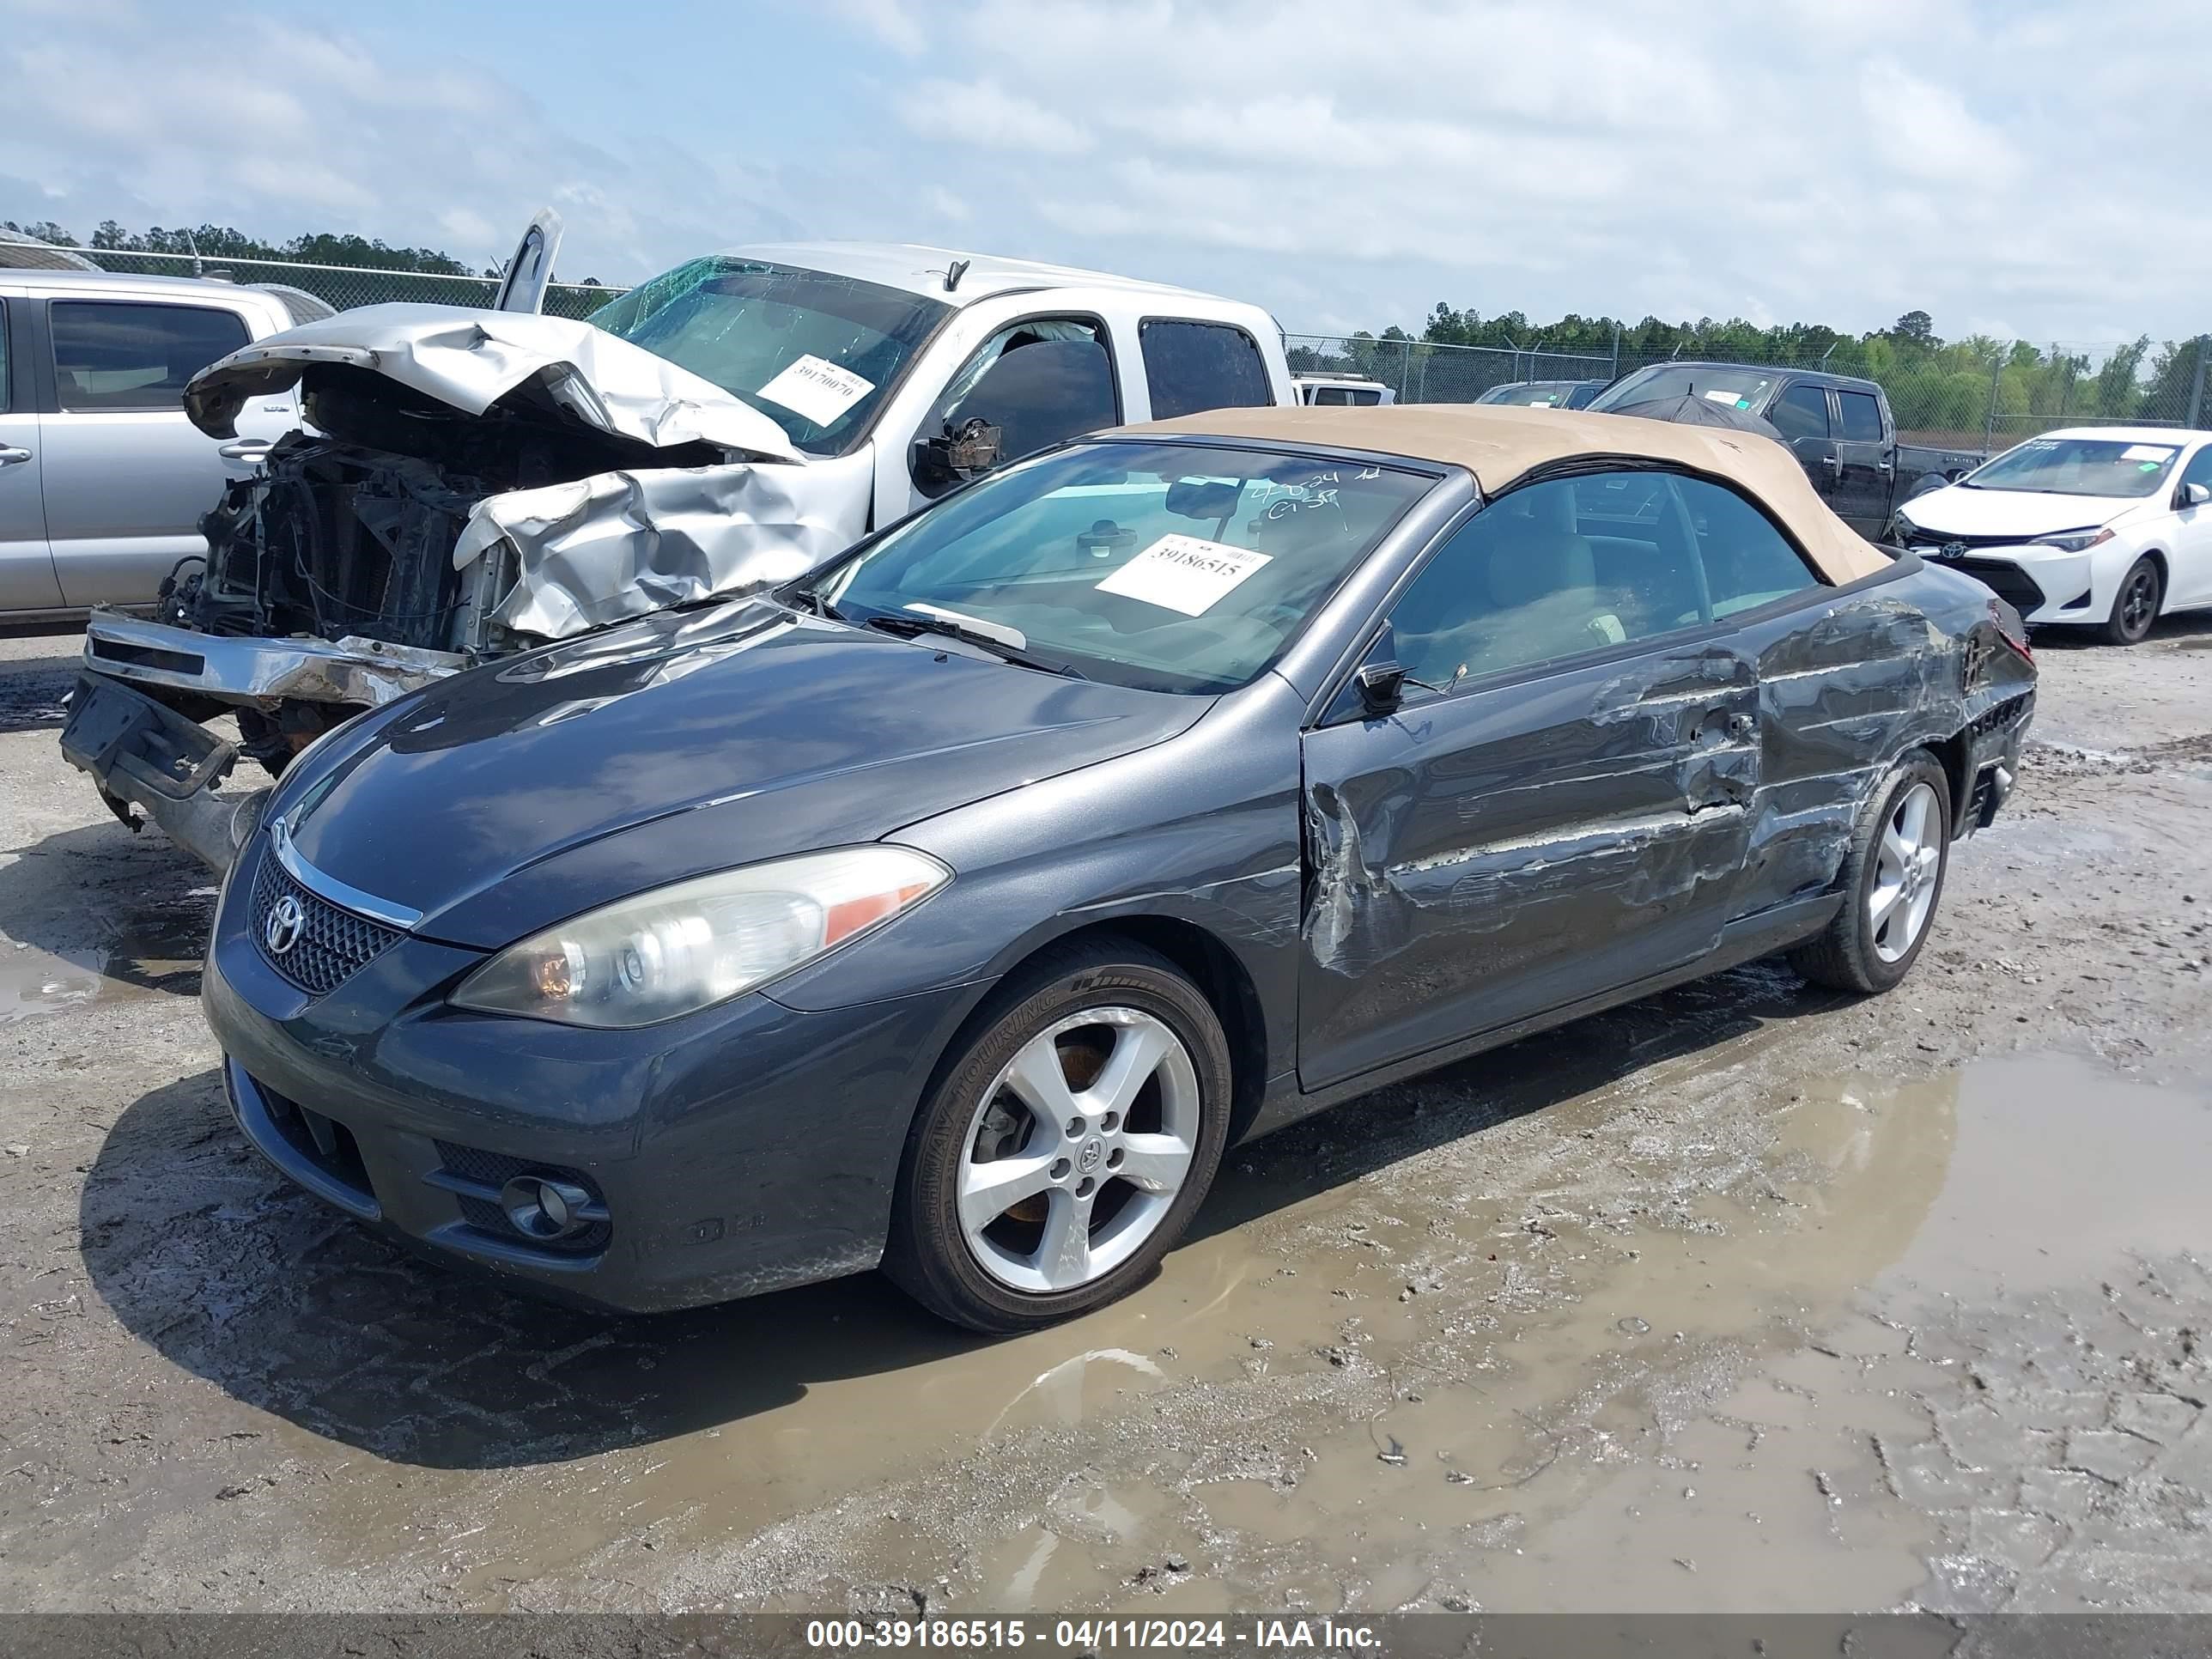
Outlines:
POLYGON ((883 1267, 978 1332, 1104 1307, 1190 1225, 1228 1117, 1228 1037, 1172 962, 1135 940, 1048 951, 922 1102, 883 1267))

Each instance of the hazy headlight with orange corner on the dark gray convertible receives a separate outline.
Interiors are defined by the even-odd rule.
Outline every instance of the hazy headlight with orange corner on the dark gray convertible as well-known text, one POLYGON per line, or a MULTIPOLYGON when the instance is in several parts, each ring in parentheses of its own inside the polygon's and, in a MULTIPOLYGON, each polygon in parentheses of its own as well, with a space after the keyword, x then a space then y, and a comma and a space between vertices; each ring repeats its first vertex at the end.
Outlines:
POLYGON ((679 880, 509 945, 451 1000, 568 1026, 648 1026, 768 984, 951 878, 927 854, 878 845, 679 880))

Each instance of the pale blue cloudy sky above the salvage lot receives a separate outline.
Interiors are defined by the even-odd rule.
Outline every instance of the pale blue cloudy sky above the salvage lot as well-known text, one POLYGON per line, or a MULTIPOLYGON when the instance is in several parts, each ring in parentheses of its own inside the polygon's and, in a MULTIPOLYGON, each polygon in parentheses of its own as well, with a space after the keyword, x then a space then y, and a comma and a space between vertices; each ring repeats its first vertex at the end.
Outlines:
POLYGON ((562 276, 865 237, 1197 283, 2099 343, 2212 327, 2212 7, 0 0, 0 217, 562 276))

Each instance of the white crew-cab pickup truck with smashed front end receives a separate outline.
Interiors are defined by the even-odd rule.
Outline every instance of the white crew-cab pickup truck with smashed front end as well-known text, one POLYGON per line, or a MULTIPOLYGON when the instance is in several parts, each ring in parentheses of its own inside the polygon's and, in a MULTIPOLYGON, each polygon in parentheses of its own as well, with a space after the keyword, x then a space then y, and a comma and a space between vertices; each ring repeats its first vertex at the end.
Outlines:
POLYGON ((212 363, 186 411, 305 425, 204 520, 155 622, 95 611, 62 752, 133 827, 223 867, 321 732, 462 668, 790 580, 962 480, 1102 427, 1296 403, 1267 312, 883 243, 732 248, 538 312, 542 215, 498 310, 374 305, 212 363), (239 741, 199 721, 237 714, 239 741))

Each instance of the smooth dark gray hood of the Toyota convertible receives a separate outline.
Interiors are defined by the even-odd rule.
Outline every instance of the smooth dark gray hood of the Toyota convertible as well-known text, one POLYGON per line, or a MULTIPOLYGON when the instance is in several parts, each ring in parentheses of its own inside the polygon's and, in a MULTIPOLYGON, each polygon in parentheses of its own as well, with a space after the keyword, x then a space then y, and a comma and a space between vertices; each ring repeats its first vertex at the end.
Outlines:
POLYGON ((276 805, 325 876, 493 949, 661 883, 876 841, 1208 706, 743 602, 440 681, 345 728, 276 805))

